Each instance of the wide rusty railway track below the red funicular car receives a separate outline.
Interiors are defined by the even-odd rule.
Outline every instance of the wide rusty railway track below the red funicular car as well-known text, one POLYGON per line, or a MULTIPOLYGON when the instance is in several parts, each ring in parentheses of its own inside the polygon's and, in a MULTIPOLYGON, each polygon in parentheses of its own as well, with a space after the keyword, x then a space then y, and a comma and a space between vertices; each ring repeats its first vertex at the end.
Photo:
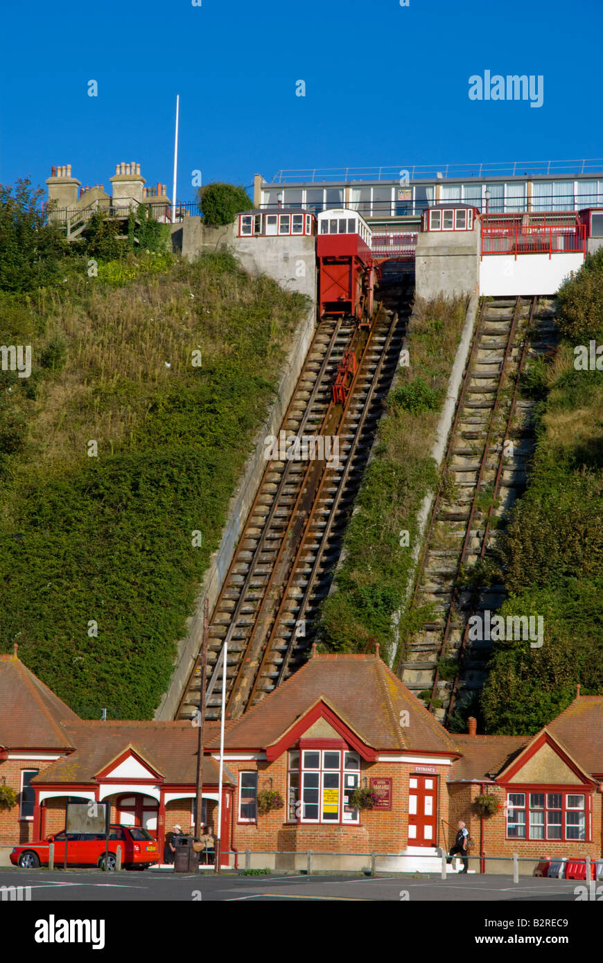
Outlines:
MULTIPOLYGON (((224 642, 230 718, 241 716, 305 659, 398 363, 409 299, 409 288, 388 295, 369 330, 349 319, 326 320, 316 330, 280 432, 286 444, 294 436, 331 439, 331 458, 275 457, 267 463, 209 621, 208 719, 221 712, 224 642), (332 402, 331 386, 347 350, 355 352, 358 366, 343 406, 332 402)), ((197 658, 177 717, 194 716, 201 684, 197 658)))

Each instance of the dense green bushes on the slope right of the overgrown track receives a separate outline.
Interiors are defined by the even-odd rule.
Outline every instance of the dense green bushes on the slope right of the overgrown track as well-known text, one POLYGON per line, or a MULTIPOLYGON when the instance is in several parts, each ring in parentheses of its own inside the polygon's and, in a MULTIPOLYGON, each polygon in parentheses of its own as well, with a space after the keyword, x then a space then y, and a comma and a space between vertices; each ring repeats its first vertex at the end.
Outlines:
POLYGON ((603 250, 564 284, 558 312, 560 349, 528 378, 541 395, 529 487, 500 543, 501 613, 542 615, 544 644, 495 644, 482 696, 492 733, 536 732, 576 683, 603 693, 603 374, 574 367, 574 348, 603 344, 603 250))

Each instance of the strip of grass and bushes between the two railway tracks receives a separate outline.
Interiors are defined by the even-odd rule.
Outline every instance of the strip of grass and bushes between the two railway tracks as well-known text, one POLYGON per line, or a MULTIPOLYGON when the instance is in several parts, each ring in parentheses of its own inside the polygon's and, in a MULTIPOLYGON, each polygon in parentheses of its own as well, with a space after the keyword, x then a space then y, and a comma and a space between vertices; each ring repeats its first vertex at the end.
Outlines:
MULTIPOLYGON (((435 428, 465 319, 464 300, 415 303, 409 328, 410 364, 398 369, 354 515, 345 560, 323 605, 320 637, 328 651, 374 651, 383 659, 396 644, 395 612, 403 606, 418 538, 417 513, 436 486, 430 455, 435 428), (406 535, 407 534, 407 535, 406 535)), ((408 611, 405 638, 422 620, 408 611)))

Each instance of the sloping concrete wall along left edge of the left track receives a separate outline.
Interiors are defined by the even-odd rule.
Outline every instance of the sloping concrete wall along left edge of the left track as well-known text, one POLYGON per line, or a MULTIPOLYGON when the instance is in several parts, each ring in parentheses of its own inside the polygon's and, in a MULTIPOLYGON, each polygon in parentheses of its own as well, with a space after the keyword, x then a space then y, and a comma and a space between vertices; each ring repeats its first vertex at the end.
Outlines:
POLYGON ((253 454, 249 456, 243 477, 228 505, 227 520, 220 548, 212 556, 209 568, 205 573, 201 591, 197 598, 195 614, 187 620, 187 635, 178 642, 178 655, 171 676, 170 687, 164 693, 155 712, 154 718, 156 719, 171 719, 178 709, 201 645, 205 597, 207 596, 209 599, 211 612, 220 593, 235 546, 245 525, 249 508, 251 508, 255 498, 255 492, 266 468, 264 438, 267 434, 278 434, 284 413, 300 377, 301 368, 314 334, 314 327, 315 306, 313 304, 298 328, 294 344, 289 351, 280 377, 275 402, 264 424, 257 432, 253 454))

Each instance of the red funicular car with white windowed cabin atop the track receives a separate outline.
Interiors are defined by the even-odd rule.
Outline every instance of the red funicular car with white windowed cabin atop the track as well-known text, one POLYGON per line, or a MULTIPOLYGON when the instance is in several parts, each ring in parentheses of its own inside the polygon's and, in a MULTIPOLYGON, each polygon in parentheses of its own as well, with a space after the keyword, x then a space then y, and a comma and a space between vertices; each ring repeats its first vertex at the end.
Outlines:
POLYGON ((320 315, 362 322, 373 310, 371 228, 357 211, 343 207, 323 211, 317 221, 320 315))

